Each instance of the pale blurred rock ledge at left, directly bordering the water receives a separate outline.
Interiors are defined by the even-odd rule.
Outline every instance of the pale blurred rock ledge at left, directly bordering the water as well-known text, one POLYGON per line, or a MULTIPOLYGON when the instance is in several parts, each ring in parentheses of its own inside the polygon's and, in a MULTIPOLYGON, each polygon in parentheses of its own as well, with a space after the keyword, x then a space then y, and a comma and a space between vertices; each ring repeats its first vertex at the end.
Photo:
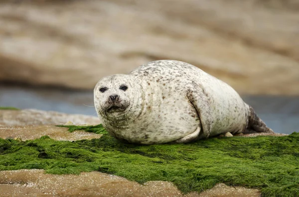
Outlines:
POLYGON ((88 115, 66 114, 37 109, 0 110, 0 126, 65 124, 68 121, 75 125, 100 124, 98 117, 88 115))

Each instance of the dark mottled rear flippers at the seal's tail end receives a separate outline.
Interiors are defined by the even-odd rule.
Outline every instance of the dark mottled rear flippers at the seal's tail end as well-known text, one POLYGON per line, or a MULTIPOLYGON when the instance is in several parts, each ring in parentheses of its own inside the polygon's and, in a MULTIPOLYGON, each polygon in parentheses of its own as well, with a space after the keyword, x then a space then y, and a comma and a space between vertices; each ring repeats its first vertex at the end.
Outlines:
POLYGON ((248 126, 245 130, 245 133, 274 133, 271 128, 268 128, 265 122, 258 117, 256 112, 253 110, 252 106, 249 106, 249 115, 248 115, 248 126), (251 132, 249 132, 251 131, 251 132), (255 132, 254 132, 255 131, 255 132))

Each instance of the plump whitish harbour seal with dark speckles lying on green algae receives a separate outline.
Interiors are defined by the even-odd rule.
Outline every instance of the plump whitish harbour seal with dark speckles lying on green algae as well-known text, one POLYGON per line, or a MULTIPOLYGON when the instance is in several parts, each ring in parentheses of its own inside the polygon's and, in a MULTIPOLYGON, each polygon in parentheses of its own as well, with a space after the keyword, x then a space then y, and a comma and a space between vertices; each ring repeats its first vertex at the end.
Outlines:
POLYGON ((273 132, 228 84, 175 60, 101 79, 94 103, 104 128, 127 143, 188 143, 227 132, 273 132))

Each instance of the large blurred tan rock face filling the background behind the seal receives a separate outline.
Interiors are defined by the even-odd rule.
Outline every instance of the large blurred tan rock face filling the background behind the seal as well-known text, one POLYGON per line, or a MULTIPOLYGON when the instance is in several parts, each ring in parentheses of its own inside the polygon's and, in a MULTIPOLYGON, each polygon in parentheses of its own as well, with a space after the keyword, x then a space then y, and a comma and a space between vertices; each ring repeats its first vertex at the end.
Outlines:
POLYGON ((3 0, 0 80, 93 89, 175 59, 241 94, 299 95, 298 10, 296 0, 3 0))

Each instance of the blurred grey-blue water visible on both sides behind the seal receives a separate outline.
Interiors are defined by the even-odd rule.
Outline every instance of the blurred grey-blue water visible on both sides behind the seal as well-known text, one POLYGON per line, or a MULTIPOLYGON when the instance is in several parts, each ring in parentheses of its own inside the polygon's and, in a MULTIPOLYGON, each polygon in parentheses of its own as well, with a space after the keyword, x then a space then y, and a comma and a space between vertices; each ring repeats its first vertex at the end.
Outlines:
MULTIPOLYGON (((277 133, 299 132, 299 97, 242 96, 277 133)), ((96 116, 92 91, 0 86, 0 106, 96 116), (87 106, 89 105, 89 106, 87 106)))

